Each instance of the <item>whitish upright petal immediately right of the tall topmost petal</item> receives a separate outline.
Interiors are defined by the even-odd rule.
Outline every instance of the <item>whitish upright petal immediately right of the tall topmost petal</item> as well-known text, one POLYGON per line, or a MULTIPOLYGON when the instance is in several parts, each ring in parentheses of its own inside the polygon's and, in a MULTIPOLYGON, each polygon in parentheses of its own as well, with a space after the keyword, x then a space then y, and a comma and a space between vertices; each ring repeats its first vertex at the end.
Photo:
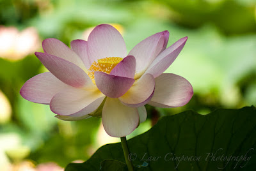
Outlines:
POLYGON ((164 33, 156 33, 132 48, 129 56, 136 58, 136 78, 141 77, 164 46, 164 33))

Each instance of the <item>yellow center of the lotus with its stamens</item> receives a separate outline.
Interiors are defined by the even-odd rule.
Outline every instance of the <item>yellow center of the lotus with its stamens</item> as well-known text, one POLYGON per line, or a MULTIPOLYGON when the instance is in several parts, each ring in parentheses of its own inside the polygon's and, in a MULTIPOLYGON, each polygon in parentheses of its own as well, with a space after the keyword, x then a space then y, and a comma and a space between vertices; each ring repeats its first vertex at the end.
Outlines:
POLYGON ((113 68, 115 68, 115 66, 122 60, 122 57, 105 57, 103 59, 99 59, 98 62, 93 62, 92 66, 88 70, 88 75, 92 79, 92 82, 95 84, 95 71, 102 71, 109 74, 113 70, 113 68))

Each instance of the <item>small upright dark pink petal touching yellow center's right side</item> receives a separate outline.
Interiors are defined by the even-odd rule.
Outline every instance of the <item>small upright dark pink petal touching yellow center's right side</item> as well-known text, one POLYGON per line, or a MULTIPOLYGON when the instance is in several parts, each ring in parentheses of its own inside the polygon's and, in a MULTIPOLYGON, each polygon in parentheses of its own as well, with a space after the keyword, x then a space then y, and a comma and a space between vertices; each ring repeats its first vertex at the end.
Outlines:
POLYGON ((134 78, 136 68, 136 59, 134 56, 125 57, 115 68, 110 72, 110 75, 120 77, 134 78))

